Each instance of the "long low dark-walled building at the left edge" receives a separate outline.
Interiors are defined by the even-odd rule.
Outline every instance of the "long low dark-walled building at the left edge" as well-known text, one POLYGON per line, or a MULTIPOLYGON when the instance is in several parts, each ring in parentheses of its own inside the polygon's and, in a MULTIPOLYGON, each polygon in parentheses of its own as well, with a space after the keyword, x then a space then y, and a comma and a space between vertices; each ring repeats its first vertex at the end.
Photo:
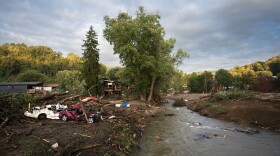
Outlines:
POLYGON ((42 87, 43 82, 0 82, 0 93, 30 93, 36 94, 42 90, 36 87, 42 87))

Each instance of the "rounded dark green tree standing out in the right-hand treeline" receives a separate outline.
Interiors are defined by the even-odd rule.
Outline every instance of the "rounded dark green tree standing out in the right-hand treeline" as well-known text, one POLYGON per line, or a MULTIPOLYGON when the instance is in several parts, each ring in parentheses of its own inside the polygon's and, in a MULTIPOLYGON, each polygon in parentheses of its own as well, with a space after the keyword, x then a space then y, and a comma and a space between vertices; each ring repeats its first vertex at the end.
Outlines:
POLYGON ((232 85, 232 78, 230 72, 225 69, 219 69, 215 75, 215 80, 218 82, 218 85, 223 87, 232 85))

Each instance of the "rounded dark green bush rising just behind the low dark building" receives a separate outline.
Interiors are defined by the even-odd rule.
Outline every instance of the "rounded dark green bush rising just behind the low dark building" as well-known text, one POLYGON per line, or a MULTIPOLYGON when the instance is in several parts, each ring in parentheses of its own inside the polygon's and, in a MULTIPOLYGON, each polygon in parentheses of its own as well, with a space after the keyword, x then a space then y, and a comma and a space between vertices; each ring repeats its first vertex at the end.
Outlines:
POLYGON ((23 73, 20 73, 16 81, 18 82, 48 82, 48 76, 45 74, 42 74, 36 70, 27 70, 23 73))

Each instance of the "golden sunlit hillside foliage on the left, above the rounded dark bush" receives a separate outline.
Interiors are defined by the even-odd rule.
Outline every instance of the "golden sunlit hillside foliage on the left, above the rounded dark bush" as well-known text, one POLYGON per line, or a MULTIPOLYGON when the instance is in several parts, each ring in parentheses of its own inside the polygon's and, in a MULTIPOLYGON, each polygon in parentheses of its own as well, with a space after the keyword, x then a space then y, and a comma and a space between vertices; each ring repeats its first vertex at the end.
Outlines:
POLYGON ((15 81, 18 74, 36 70, 55 77, 60 70, 80 70, 81 58, 69 53, 66 58, 47 46, 27 46, 23 43, 6 43, 0 46, 1 81, 15 81))

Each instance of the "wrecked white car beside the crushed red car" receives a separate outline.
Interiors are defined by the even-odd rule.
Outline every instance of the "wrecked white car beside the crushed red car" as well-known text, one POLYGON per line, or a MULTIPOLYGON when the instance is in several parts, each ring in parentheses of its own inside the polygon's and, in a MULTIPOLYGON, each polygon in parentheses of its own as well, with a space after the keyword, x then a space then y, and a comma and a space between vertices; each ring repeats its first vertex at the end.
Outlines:
POLYGON ((67 108, 67 106, 60 104, 36 106, 31 111, 24 112, 24 115, 35 119, 59 119, 59 112, 64 108, 67 108))

